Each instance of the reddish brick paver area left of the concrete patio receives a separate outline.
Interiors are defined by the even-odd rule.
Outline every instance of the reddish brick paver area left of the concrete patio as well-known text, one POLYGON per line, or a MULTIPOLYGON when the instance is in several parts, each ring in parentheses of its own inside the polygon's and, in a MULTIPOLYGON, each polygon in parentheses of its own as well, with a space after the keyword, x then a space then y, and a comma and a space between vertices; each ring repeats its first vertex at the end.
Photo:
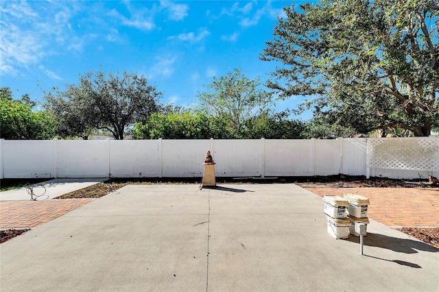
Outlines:
POLYGON ((74 210, 93 199, 0 202, 0 228, 33 228, 74 210))

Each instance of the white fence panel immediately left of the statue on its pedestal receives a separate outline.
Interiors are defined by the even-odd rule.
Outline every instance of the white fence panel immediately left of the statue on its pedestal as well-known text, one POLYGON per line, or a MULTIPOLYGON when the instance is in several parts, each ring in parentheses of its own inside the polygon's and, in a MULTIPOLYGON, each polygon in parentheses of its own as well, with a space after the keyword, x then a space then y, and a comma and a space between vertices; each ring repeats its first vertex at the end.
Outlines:
MULTIPOLYGON (((163 140, 162 175, 165 178, 200 178, 211 140, 163 140)), ((215 156, 213 155, 213 160, 215 156)))

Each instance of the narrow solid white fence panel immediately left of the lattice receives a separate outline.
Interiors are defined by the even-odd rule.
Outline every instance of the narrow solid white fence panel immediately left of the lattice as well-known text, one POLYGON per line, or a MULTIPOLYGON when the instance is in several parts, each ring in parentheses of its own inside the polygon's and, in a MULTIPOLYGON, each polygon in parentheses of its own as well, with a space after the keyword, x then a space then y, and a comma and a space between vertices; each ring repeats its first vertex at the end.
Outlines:
POLYGON ((365 138, 343 138, 342 171, 346 175, 365 175, 367 142, 365 138))

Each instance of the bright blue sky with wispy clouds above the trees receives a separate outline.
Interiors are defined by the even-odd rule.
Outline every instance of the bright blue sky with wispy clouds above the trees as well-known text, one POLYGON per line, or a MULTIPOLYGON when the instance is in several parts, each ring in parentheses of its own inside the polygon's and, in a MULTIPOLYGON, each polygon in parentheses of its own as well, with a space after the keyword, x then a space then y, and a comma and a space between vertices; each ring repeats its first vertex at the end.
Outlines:
MULTIPOLYGON (((266 80, 276 64, 259 55, 276 17, 303 2, 1 0, 1 86, 43 101, 42 89, 119 70, 147 76, 162 102, 190 107, 214 75, 240 68, 266 80)), ((276 110, 301 101, 277 101, 276 110)))

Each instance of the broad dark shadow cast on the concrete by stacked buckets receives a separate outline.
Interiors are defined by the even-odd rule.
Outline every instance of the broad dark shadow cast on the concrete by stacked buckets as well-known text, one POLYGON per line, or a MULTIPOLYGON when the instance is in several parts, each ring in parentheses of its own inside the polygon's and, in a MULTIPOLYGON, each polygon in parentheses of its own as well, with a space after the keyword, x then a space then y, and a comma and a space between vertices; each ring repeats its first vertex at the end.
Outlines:
MULTIPOLYGON (((359 243, 359 237, 349 236, 348 241, 359 243)), ((383 234, 370 233, 364 236, 364 245, 385 248, 394 252, 403 252, 404 254, 416 254, 418 250, 423 252, 439 252, 439 249, 412 239, 399 239, 397 237, 383 234)), ((402 265, 400 263, 400 265, 402 265)))

